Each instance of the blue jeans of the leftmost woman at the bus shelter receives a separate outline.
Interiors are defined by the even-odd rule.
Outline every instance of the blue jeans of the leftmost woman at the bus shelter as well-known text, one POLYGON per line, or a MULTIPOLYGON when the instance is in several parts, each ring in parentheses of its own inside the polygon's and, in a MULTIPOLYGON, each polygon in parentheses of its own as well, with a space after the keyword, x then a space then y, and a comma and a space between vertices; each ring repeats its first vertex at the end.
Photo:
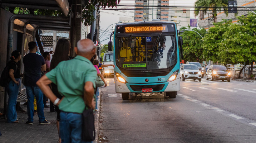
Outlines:
MULTIPOLYGON (((15 79, 21 84, 20 78, 15 79)), ((7 85, 7 93, 8 93, 8 107, 7 107, 7 122, 11 123, 17 120, 17 112, 16 112, 16 103, 17 97, 19 93, 19 85, 15 84, 12 80, 7 85)))

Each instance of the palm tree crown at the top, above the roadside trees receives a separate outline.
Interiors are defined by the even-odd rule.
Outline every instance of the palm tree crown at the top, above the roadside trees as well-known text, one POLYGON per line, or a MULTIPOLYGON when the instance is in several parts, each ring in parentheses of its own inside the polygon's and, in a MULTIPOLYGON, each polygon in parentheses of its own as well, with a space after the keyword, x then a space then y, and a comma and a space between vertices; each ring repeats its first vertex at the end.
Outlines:
POLYGON ((199 15, 200 12, 203 14, 207 13, 207 11, 212 11, 212 17, 214 22, 217 22, 217 12, 221 12, 221 9, 224 9, 224 13, 226 16, 228 13, 228 0, 197 0, 195 2, 195 16, 199 15))

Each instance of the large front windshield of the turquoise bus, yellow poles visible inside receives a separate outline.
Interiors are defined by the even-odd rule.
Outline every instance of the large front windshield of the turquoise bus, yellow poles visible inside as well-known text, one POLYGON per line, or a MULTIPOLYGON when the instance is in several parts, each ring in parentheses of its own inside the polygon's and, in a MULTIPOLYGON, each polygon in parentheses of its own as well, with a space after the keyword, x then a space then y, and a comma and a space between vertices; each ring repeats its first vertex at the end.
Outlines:
POLYGON ((174 35, 123 36, 116 38, 116 64, 129 70, 165 69, 176 64, 174 35))

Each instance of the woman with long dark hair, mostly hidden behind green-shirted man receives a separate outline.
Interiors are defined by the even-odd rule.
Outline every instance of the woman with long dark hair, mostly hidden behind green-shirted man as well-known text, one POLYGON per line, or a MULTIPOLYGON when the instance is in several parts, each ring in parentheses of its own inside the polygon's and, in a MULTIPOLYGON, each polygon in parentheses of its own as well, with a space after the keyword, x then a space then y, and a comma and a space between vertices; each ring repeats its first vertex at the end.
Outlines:
MULTIPOLYGON (((66 39, 60 39, 57 42, 54 55, 52 56, 52 61, 50 65, 50 71, 54 69, 61 61, 69 60, 69 50, 70 50, 70 42, 66 39)), ((52 83, 52 92, 57 96, 57 98, 62 98, 61 94, 58 92, 57 85, 52 83)), ((57 106, 55 106, 55 111, 57 112, 57 128, 58 133, 60 134, 60 110, 57 106)), ((61 142, 61 138, 59 136, 59 142, 61 142)))

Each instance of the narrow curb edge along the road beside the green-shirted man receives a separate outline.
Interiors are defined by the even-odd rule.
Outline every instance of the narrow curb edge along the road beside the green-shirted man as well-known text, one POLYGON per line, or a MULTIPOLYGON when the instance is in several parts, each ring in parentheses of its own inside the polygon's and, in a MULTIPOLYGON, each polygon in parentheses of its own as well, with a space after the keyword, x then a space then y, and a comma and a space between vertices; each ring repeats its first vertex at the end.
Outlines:
POLYGON ((95 126, 95 140, 93 143, 98 143, 99 142, 99 123, 100 123, 100 104, 101 104, 101 89, 99 88, 99 96, 98 96, 98 101, 97 101, 97 107, 99 111, 95 111, 95 118, 94 118, 94 126, 95 126))

